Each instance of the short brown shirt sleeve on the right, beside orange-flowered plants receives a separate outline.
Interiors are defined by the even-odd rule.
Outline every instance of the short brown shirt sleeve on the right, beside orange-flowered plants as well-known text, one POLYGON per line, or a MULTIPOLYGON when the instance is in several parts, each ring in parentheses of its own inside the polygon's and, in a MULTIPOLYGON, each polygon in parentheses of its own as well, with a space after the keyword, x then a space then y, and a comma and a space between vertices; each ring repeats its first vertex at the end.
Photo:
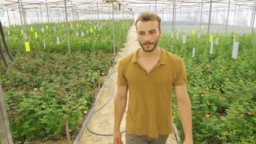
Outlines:
POLYGON ((187 74, 185 70, 185 65, 182 59, 177 60, 176 64, 176 79, 173 83, 174 86, 183 85, 184 83, 187 83, 187 74))

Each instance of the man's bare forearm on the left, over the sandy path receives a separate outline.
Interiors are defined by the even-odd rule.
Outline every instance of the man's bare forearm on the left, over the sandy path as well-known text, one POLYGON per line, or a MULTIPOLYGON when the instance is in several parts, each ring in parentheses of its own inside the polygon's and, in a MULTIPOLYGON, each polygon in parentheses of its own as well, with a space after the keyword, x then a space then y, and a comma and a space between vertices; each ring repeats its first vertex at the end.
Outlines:
POLYGON ((120 131, 120 124, 124 116, 126 108, 127 98, 115 98, 115 121, 114 131, 120 131))

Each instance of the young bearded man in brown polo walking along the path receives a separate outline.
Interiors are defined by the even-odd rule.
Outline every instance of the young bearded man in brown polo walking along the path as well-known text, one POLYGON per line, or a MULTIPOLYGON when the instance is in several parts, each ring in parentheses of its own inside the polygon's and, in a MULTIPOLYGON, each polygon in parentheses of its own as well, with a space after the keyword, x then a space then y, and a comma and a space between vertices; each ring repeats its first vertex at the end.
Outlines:
POLYGON ((184 143, 193 143, 191 103, 187 76, 181 58, 158 46, 161 18, 150 12, 139 15, 135 25, 141 49, 121 59, 115 99, 114 143, 121 140, 120 123, 127 91, 126 144, 164 144, 172 128, 172 88, 185 133, 184 143))

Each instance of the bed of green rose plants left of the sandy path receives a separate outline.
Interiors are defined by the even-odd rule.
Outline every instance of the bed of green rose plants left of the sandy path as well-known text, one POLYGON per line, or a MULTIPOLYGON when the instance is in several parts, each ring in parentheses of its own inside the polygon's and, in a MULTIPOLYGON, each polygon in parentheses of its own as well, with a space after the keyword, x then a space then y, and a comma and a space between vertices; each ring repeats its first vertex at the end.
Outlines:
MULTIPOLYGON (((65 118, 68 118, 71 133, 79 131, 79 119, 95 100, 92 77, 97 83, 97 70, 100 70, 102 85, 109 63, 114 62, 112 23, 101 21, 98 25, 105 23, 101 29, 85 33, 96 23, 83 21, 81 27, 69 28, 71 54, 62 23, 51 23, 49 29, 44 24, 44 33, 40 31, 42 25, 27 26, 26 41, 30 41, 30 52, 26 52, 21 27, 5 27, 15 61, 8 59, 10 67, 1 68, 1 84, 15 142, 39 137, 61 139, 65 136, 65 118), (35 38, 35 31, 38 38, 35 38), (85 36, 79 34, 77 37, 77 31, 80 34, 84 31, 85 36), (56 44, 56 37, 60 37, 60 45, 56 44), (46 41, 45 49, 43 40, 46 41)), ((124 46, 131 23, 129 20, 114 22, 117 51, 124 46)))

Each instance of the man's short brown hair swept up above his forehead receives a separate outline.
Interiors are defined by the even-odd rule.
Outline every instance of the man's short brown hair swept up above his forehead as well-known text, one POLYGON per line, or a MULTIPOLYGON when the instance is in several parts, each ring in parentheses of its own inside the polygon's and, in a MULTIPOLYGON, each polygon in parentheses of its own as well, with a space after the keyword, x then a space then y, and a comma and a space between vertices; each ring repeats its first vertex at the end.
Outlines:
POLYGON ((135 26, 137 29, 137 22, 138 21, 158 21, 158 28, 160 29, 161 17, 157 14, 146 11, 144 13, 139 14, 138 19, 136 20, 135 26))

